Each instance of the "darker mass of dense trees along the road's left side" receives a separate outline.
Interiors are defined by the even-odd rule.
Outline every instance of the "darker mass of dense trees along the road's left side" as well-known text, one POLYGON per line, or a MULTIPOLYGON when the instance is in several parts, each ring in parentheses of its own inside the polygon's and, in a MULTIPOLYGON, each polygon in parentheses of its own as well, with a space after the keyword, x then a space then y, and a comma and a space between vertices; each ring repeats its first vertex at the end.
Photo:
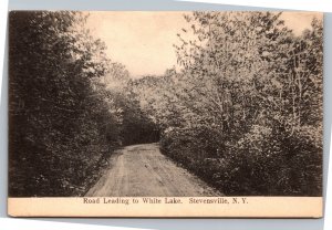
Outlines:
POLYGON ((139 137, 123 125, 144 119, 118 90, 128 72, 85 21, 77 12, 10 13, 10 196, 83 195, 108 155, 134 142, 125 135, 139 137))

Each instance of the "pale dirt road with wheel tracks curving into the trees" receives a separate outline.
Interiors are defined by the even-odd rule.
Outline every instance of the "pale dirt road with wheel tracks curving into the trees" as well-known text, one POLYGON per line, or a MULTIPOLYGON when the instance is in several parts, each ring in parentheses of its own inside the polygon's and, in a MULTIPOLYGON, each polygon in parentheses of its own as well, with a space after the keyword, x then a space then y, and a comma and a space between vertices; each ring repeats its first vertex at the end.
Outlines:
POLYGON ((86 197, 221 196, 165 157, 157 144, 127 146, 114 154, 110 167, 86 197))

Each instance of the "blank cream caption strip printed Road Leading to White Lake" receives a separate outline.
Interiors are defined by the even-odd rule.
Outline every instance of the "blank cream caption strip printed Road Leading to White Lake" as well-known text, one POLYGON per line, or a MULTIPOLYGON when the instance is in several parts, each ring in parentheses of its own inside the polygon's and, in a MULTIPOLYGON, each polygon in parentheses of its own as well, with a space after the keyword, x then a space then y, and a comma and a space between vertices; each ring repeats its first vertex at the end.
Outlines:
POLYGON ((9 198, 13 217, 320 218, 320 197, 9 198))

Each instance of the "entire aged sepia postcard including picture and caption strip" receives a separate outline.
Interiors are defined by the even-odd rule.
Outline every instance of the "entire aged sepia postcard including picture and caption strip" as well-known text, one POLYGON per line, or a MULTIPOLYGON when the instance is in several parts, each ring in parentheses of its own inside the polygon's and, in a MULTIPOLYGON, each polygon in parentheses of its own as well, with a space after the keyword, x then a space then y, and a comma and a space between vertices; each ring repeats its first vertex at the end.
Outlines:
POLYGON ((323 14, 12 11, 13 217, 322 217, 323 14))

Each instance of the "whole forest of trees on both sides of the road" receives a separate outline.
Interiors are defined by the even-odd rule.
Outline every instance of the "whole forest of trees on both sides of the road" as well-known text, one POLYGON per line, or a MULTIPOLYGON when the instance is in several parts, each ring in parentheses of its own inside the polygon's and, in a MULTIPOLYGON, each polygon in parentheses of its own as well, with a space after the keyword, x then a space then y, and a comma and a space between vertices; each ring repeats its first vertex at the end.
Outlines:
POLYGON ((159 143, 226 196, 321 196, 323 22, 281 14, 185 13, 179 67, 135 79, 87 14, 11 12, 9 195, 84 196, 116 149, 159 143))

